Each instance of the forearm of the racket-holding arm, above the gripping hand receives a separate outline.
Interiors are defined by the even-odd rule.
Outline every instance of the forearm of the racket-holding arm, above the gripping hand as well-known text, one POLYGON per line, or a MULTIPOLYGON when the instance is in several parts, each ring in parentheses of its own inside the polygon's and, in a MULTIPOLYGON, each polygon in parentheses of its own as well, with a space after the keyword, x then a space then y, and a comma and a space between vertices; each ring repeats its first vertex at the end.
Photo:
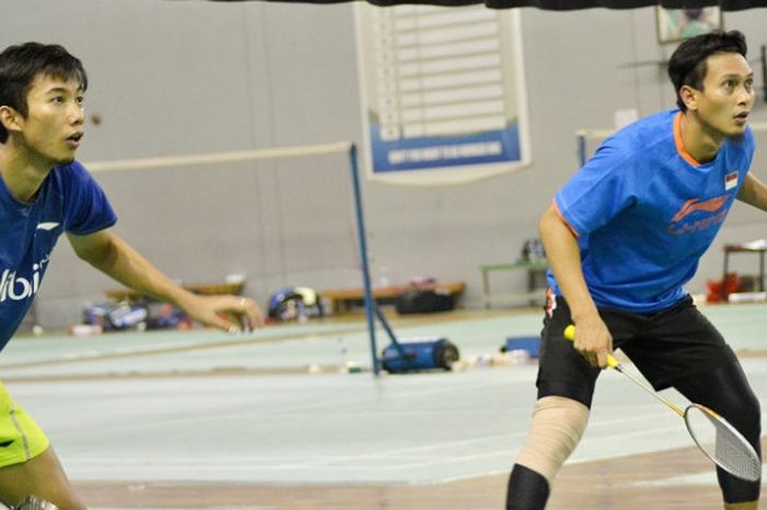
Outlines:
POLYGON ((575 324, 598 316, 581 269, 581 251, 575 236, 550 206, 540 218, 540 237, 546 256, 575 324))

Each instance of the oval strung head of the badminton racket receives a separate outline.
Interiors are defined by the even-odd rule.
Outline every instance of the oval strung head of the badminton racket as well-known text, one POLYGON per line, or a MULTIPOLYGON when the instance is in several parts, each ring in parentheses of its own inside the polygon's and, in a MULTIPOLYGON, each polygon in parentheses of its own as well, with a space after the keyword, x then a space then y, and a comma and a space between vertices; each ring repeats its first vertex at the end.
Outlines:
POLYGON ((742 433, 700 404, 685 409, 685 424, 701 452, 725 472, 748 481, 762 478, 762 460, 742 433))

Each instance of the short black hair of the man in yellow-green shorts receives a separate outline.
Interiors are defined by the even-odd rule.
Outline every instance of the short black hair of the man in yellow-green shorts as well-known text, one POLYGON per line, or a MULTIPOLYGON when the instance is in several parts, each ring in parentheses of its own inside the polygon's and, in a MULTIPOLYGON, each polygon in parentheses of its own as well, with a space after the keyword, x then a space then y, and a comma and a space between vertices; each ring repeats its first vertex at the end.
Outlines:
MULTIPOLYGON (((26 117, 26 94, 39 76, 80 82, 88 89, 88 75, 82 63, 58 44, 24 43, 9 46, 0 53, 0 106, 10 106, 26 117)), ((8 139, 8 131, 0 124, 0 143, 8 139)))

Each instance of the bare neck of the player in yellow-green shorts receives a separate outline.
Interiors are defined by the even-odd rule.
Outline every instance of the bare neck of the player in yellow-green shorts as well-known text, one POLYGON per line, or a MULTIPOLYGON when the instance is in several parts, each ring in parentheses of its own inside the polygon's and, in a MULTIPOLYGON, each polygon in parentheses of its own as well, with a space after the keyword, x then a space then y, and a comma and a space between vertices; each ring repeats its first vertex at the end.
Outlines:
POLYGON ((37 159, 28 151, 14 148, 10 139, 5 145, 0 145, 0 177, 19 202, 32 202, 50 173, 51 168, 37 159))

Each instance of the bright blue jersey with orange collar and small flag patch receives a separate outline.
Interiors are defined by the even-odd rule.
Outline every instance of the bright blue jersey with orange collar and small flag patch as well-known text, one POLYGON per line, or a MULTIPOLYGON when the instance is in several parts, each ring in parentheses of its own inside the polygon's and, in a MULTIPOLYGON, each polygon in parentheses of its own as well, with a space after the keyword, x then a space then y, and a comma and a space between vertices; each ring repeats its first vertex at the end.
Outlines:
MULTIPOLYGON (((684 297, 683 285, 748 172, 754 156, 749 128, 701 165, 684 148, 680 120, 673 110, 627 126, 554 196, 577 236, 597 306, 653 313, 684 297)), ((549 284, 560 294, 551 272, 549 284)))

